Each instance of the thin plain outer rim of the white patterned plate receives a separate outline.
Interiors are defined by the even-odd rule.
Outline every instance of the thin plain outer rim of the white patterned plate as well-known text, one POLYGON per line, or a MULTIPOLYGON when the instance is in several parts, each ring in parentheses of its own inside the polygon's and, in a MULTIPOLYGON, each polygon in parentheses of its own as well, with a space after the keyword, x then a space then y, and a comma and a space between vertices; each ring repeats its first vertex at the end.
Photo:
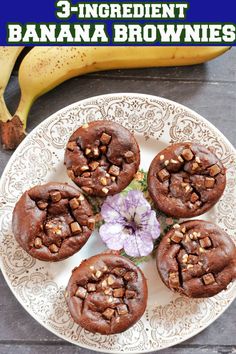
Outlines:
MULTIPOLYGON (((63 112, 65 111, 69 111, 69 110, 73 110, 74 108, 80 106, 80 105, 86 105, 88 103, 91 103, 92 101, 97 101, 97 100, 100 100, 100 99, 106 99, 106 98, 118 98, 118 97, 132 97, 132 98, 145 98, 145 99, 149 99, 149 100, 159 100, 159 101, 163 101, 164 103, 167 103, 167 104, 172 104, 174 107, 178 107, 178 108, 181 108, 183 109, 184 111, 188 111, 190 114, 192 114, 194 117, 196 117, 199 121, 203 122, 204 124, 207 125, 207 127, 209 127, 209 129, 211 131, 213 131, 213 133, 220 137, 228 147, 230 147, 230 149, 232 150, 233 152, 233 155, 234 157, 236 157, 236 150, 234 148, 234 146, 228 141, 228 139, 223 135, 223 133, 221 133, 211 122, 209 122, 206 118, 202 117, 200 114, 198 114, 197 112, 195 112, 194 110, 192 110, 191 108, 188 108, 187 106, 183 105, 183 104, 180 104, 178 102, 175 102, 173 100, 169 100, 169 99, 166 99, 164 97, 160 97, 160 96, 155 96, 155 95, 148 95, 148 94, 141 94, 141 93, 131 93, 131 92, 128 92, 128 93, 110 93, 110 94, 102 94, 102 95, 97 95, 97 96, 93 96, 93 97, 89 97, 89 98, 86 98, 86 99, 83 99, 83 100, 80 100, 80 101, 77 101, 77 102, 74 102, 66 107, 63 107, 62 109, 58 110, 57 112, 51 114, 49 117, 45 118, 39 125, 37 125, 27 136, 26 138, 22 141, 22 143, 18 146, 18 148, 15 150, 15 152, 12 154, 12 156, 10 157, 3 173, 2 173, 2 176, 1 176, 1 179, 0 179, 0 197, 2 196, 2 187, 4 185, 4 181, 8 175, 8 172, 9 172, 9 168, 12 164, 12 161, 14 160, 14 158, 18 155, 18 152, 24 147, 27 145, 29 139, 31 136, 33 136, 40 128, 42 127, 46 127, 47 126, 47 123, 49 123, 54 117, 60 115, 60 114, 63 114, 63 112)), ((3 195, 4 197, 4 195, 3 195)), ((11 204, 11 203, 9 203, 11 204)), ((7 205, 5 205, 6 207, 7 205)), ((1 231, 1 230, 0 230, 1 231)), ((32 309, 27 307, 27 305, 24 303, 24 301, 18 296, 17 292, 15 291, 8 275, 7 275, 7 272, 4 268, 4 263, 3 263, 3 258, 2 256, 0 255, 0 266, 1 266, 1 270, 2 270, 2 274, 5 278, 5 281, 7 283, 7 285, 9 286, 9 288, 11 289, 12 293, 14 294, 15 298, 18 300, 18 302, 23 306, 23 308, 38 322, 40 323, 44 328, 46 328, 47 330, 49 330, 50 332, 52 332, 53 334, 55 334, 56 336, 70 342, 70 343, 73 343, 77 346, 80 346, 82 348, 86 348, 86 349, 89 349, 89 350, 94 350, 94 351, 97 351, 97 352, 107 352, 107 353, 125 353, 125 351, 117 351, 117 350, 113 350, 113 349, 104 349, 104 348, 93 348, 91 347, 90 345, 86 345, 85 343, 81 344, 81 343, 78 343, 76 340, 72 340, 70 338, 67 338, 66 335, 63 335, 61 333, 58 333, 52 326, 50 326, 50 324, 47 324, 47 323, 44 323, 43 320, 41 320, 40 318, 37 318, 36 315, 33 313, 32 309)), ((232 285, 233 288, 236 287, 236 284, 232 285)), ((179 344, 183 341, 186 341, 187 339, 189 338, 192 338, 193 336, 197 335, 198 333, 200 333, 201 331, 203 331, 204 329, 206 329, 209 325, 211 325, 217 318, 219 318, 223 312, 230 306, 230 304, 234 301, 234 299, 236 298, 236 293, 234 296, 232 296, 232 298, 224 305, 223 309, 221 309, 219 311, 219 313, 217 315, 214 315, 213 318, 211 318, 210 320, 206 321, 206 323, 204 324, 204 326, 202 328, 198 328, 198 329, 195 329, 195 330, 192 330, 189 334, 187 335, 183 335, 181 338, 179 339, 176 339, 175 341, 173 341, 172 344, 166 344, 166 345, 163 345, 162 347, 160 348, 150 348, 150 349, 144 349, 144 350, 141 350, 141 351, 136 351, 135 353, 151 353, 151 352, 154 352, 154 351, 158 351, 158 350, 162 350, 162 349, 166 349, 168 347, 171 347, 173 345, 176 345, 176 344, 179 344)), ((132 352, 132 351, 130 351, 132 352)), ((127 351, 128 353, 128 351, 127 351)))

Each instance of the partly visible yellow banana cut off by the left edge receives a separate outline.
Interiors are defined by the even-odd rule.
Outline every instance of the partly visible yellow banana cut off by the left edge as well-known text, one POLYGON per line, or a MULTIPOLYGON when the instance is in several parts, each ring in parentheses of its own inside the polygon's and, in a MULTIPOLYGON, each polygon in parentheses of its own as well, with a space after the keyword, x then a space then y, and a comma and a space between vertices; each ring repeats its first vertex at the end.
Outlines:
POLYGON ((16 59, 23 48, 24 47, 0 47, 0 130, 2 136, 5 135, 4 126, 6 122, 11 121, 12 119, 12 116, 8 111, 4 100, 4 92, 10 79, 16 59))

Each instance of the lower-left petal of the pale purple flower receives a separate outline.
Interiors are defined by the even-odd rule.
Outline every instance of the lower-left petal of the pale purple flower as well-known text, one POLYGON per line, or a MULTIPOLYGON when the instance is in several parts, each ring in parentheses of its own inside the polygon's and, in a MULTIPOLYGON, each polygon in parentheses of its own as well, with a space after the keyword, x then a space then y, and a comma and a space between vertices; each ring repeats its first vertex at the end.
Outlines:
POLYGON ((121 224, 106 223, 100 227, 99 234, 108 248, 117 251, 123 248, 126 234, 121 224))

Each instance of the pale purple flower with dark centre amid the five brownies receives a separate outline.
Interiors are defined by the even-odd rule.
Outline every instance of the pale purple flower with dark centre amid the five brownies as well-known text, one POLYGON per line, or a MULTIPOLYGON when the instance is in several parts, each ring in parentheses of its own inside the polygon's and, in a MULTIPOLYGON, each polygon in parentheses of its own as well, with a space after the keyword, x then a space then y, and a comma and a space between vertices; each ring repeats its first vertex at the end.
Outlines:
POLYGON ((160 235, 160 224, 142 192, 132 190, 126 196, 107 197, 101 215, 105 223, 99 233, 108 248, 123 248, 132 257, 152 252, 153 240, 160 235))

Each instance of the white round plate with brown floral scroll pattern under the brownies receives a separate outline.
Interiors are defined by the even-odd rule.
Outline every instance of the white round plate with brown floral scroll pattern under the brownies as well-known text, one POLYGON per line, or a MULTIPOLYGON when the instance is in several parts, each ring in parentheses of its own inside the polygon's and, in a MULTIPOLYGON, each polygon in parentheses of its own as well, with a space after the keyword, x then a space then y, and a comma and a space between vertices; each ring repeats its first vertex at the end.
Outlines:
POLYGON ((141 94, 104 95, 53 114, 27 136, 10 159, 0 185, 2 271, 18 301, 35 320, 69 342, 108 353, 163 349, 209 326, 236 297, 236 283, 213 298, 190 300, 174 295, 163 285, 154 261, 143 263, 149 287, 144 316, 124 333, 101 336, 73 322, 63 296, 71 270, 82 259, 104 249, 98 235, 94 233, 73 257, 52 264, 31 258, 12 235, 12 210, 23 191, 48 181, 72 183, 63 165, 65 144, 78 126, 97 119, 116 121, 134 132, 145 170, 169 143, 191 140, 214 149, 227 167, 227 187, 217 205, 201 219, 214 221, 235 237, 236 153, 228 140, 204 118, 178 103, 141 94))

